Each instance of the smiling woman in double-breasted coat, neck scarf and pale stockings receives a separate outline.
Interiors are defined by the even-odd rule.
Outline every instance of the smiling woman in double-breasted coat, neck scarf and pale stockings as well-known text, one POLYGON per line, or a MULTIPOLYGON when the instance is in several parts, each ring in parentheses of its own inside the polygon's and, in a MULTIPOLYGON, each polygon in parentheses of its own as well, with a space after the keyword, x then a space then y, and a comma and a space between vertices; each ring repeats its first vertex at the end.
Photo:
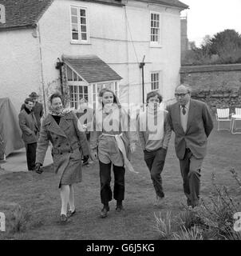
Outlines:
POLYGON ((77 116, 63 110, 60 94, 49 98, 49 114, 42 122, 36 153, 36 171, 41 173, 49 141, 53 145, 53 166, 59 178, 61 194, 61 223, 75 213, 73 183, 81 182, 81 154, 89 155, 85 133, 77 126, 77 116), (67 207, 69 204, 69 211, 67 207))

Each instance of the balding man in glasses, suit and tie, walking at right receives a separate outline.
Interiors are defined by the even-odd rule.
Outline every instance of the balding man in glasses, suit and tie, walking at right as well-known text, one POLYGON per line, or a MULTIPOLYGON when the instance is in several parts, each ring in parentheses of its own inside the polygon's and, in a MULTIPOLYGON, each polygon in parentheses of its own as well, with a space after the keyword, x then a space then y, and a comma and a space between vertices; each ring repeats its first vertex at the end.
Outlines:
POLYGON ((191 99, 188 85, 178 86, 175 96, 177 102, 168 106, 169 122, 176 135, 175 150, 180 160, 187 203, 188 206, 195 207, 199 204, 200 170, 213 122, 207 105, 191 99))

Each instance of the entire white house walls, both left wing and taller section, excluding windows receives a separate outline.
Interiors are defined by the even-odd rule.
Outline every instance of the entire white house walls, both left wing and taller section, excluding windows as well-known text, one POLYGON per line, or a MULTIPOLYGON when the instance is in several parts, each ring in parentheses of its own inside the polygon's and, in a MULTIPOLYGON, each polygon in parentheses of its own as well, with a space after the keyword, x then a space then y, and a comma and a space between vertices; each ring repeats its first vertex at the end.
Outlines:
POLYGON ((10 97, 17 109, 31 91, 41 93, 41 66, 45 91, 56 89, 60 81, 55 65, 62 54, 96 54, 123 78, 121 102, 135 103, 142 102, 139 62, 145 55, 145 94, 151 87, 151 72, 160 70, 160 93, 164 100, 173 98, 180 70, 180 14, 177 9, 136 1, 128 1, 127 6, 120 7, 55 0, 38 22, 37 38, 32 34, 34 31, 0 32, 0 94, 10 97), (71 43, 71 5, 88 10, 88 44, 71 43), (160 12, 160 47, 150 46, 150 10, 160 12))

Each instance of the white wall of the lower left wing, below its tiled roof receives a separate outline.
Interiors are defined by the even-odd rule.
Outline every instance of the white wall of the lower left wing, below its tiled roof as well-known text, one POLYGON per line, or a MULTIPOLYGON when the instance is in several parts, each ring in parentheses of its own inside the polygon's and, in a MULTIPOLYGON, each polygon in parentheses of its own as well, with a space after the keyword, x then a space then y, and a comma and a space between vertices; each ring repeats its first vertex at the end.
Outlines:
POLYGON ((38 38, 34 30, 0 31, 0 97, 17 111, 32 91, 41 93, 38 38))

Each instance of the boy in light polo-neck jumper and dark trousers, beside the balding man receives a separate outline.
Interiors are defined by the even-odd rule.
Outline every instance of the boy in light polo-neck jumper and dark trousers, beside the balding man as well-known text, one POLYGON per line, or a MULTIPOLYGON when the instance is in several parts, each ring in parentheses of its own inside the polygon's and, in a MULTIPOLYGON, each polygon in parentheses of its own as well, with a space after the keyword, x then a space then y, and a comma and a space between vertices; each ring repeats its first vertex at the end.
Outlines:
POLYGON ((146 110, 140 112, 137 118, 137 131, 156 192, 154 205, 161 206, 164 199, 161 173, 172 130, 168 123, 168 111, 164 110, 163 105, 160 106, 162 96, 152 91, 147 94, 146 102, 146 110))

